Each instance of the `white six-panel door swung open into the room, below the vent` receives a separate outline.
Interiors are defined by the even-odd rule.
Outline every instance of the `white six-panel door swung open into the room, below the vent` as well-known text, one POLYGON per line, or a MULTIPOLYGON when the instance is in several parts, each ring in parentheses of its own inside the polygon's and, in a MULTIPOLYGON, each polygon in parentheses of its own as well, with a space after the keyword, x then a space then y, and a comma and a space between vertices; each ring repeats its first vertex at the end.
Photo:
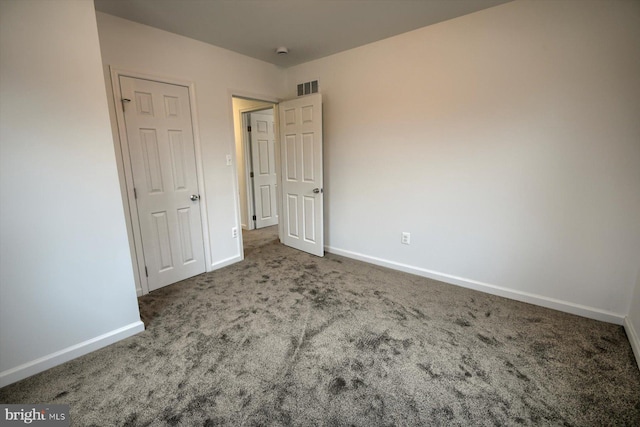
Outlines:
POLYGON ((322 96, 280 103, 283 243, 324 255, 322 96))

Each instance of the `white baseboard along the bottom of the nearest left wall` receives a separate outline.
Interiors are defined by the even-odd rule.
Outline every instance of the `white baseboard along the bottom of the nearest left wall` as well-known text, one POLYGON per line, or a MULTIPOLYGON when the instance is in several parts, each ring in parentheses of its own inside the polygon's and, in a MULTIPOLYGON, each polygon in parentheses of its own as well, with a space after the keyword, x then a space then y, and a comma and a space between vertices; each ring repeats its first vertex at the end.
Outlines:
POLYGON ((46 371, 54 366, 84 356, 110 344, 129 338, 139 332, 144 331, 144 323, 137 321, 122 328, 107 332, 90 340, 81 342, 55 353, 40 357, 31 362, 17 366, 15 368, 0 372, 0 387, 15 383, 39 372, 46 371))

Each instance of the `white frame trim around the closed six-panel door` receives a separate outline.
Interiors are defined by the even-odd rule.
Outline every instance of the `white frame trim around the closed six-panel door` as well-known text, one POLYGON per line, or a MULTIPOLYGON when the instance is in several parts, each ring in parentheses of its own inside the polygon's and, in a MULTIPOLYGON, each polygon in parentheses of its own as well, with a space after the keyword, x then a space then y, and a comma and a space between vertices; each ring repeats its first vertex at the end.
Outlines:
POLYGON ((204 244, 205 271, 211 271, 211 245, 209 239, 209 223, 207 221, 207 201, 206 191, 204 191, 204 170, 202 164, 202 151, 200 144, 200 132, 198 127, 198 113, 196 108, 195 85, 193 82, 176 79, 173 77, 156 76, 137 71, 124 70, 109 66, 111 75, 111 89, 113 94, 113 111, 116 115, 117 132, 114 132, 114 145, 116 152, 116 163, 118 166, 118 176, 120 177, 120 191, 125 210, 125 222, 127 234, 129 236, 129 247, 131 250, 131 261, 133 264, 134 279, 136 282, 136 293, 138 296, 149 293, 149 282, 144 274, 145 262, 142 247, 142 234, 138 216, 138 206, 133 191, 133 170, 129 156, 129 140, 127 138, 124 112, 122 106, 122 95, 120 92, 120 77, 132 77, 142 80, 152 80, 159 83, 172 84, 186 87, 189 91, 189 106, 191 108, 191 126, 193 128, 193 143, 196 155, 196 178, 198 182, 198 193, 200 194, 200 221, 202 222, 202 240, 204 244), (117 141, 116 141, 117 135, 117 141))

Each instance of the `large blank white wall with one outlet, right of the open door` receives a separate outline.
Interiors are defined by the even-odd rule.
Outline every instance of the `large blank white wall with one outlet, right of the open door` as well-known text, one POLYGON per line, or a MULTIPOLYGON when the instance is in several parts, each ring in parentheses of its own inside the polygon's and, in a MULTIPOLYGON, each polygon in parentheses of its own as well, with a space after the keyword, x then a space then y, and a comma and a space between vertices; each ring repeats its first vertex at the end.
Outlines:
POLYGON ((638 52, 638 2, 516 1, 288 69, 323 93, 329 251, 622 323, 638 52))

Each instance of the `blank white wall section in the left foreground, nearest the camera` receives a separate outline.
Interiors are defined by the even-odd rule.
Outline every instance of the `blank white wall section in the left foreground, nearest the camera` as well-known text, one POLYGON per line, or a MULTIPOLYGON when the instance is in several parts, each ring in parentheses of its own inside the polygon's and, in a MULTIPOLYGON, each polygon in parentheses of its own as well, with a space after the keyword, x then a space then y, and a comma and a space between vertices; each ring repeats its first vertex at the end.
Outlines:
POLYGON ((93 2, 0 7, 3 386, 144 326, 93 2))

